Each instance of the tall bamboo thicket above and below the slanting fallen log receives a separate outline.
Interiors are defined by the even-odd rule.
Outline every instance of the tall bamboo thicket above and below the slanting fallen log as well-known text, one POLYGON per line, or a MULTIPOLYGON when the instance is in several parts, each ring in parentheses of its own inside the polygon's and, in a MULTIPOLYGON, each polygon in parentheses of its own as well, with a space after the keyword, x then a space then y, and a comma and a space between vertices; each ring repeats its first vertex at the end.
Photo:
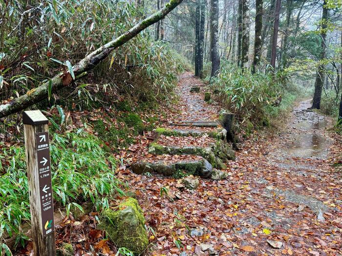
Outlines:
MULTIPOLYGON (((0 8, 6 24, 0 28, 1 66, 6 67, 0 71, 0 83, 11 88, 0 99, 25 94, 56 70, 71 71, 77 61, 126 32, 144 15, 135 2, 115 0, 47 0, 30 6, 18 0, 0 3, 0 8), (31 7, 25 14, 30 21, 21 20, 22 11, 31 7)), ((167 97, 187 62, 167 43, 155 41, 150 30, 117 49, 76 88, 64 88, 59 98, 49 89, 48 98, 83 110, 111 104, 120 94, 141 101, 167 97)))

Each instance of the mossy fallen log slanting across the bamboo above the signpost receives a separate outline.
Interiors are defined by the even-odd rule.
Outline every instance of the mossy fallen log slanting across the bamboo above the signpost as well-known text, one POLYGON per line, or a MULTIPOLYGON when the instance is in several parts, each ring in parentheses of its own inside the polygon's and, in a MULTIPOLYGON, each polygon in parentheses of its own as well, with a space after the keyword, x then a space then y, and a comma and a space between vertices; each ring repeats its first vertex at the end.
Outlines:
MULTIPOLYGON (((142 20, 134 27, 129 29, 125 34, 120 37, 108 42, 107 44, 101 46, 97 50, 93 51, 87 55, 84 59, 79 61, 73 67, 73 73, 75 75, 75 80, 80 77, 85 76, 85 72, 93 69, 102 60, 108 57, 108 55, 119 46, 128 42, 130 39, 134 38, 141 31, 149 27, 150 25, 162 20, 166 15, 168 15, 174 8, 176 8, 183 0, 170 0, 169 3, 165 5, 164 8, 160 9, 156 13, 152 14, 150 17, 142 20)), ((29 94, 22 95, 19 98, 15 98, 9 103, 0 105, 0 118, 6 117, 10 114, 17 113, 41 100, 48 98, 48 91, 51 88, 51 92, 54 93, 65 86, 70 85, 74 80, 71 78, 69 72, 61 72, 52 79, 44 82, 41 86, 34 90, 31 90, 29 94)))

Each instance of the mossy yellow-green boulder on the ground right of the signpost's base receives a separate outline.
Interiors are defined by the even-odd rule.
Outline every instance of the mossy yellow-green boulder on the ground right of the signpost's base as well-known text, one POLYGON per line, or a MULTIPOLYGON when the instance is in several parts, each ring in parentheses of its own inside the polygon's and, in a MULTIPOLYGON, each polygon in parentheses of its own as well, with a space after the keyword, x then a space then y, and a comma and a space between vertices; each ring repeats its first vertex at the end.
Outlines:
POLYGON ((126 199, 117 211, 103 211, 99 228, 106 231, 118 248, 125 247, 135 255, 143 253, 149 245, 145 217, 134 198, 126 199))

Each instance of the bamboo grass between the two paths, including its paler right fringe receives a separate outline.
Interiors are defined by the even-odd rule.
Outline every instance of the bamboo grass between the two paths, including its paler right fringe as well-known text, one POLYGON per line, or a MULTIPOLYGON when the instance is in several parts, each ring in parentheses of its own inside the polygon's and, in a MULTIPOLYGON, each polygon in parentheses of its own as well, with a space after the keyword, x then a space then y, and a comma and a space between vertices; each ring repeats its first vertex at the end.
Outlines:
POLYGON ((227 61, 222 63, 220 73, 212 83, 212 90, 218 92, 224 107, 236 114, 246 136, 254 128, 270 126, 272 119, 289 111, 301 95, 286 73, 252 74, 249 70, 236 69, 227 61), (280 97, 281 102, 277 104, 280 97))

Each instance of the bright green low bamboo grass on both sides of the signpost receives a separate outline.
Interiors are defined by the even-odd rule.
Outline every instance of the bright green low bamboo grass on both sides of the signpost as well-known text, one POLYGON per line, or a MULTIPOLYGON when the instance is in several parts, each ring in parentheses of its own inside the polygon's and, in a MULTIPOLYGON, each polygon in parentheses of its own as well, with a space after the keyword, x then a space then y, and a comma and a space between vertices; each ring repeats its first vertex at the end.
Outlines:
MULTIPOLYGON (((106 208, 108 196, 123 194, 115 177, 116 160, 101 144, 83 130, 54 134, 50 148, 53 196, 67 211, 89 200, 97 209, 106 208)), ((0 234, 21 235, 21 224, 30 219, 24 147, 5 149, 0 158, 8 161, 0 166, 0 234)), ((17 244, 26 238, 19 237, 17 244)))

